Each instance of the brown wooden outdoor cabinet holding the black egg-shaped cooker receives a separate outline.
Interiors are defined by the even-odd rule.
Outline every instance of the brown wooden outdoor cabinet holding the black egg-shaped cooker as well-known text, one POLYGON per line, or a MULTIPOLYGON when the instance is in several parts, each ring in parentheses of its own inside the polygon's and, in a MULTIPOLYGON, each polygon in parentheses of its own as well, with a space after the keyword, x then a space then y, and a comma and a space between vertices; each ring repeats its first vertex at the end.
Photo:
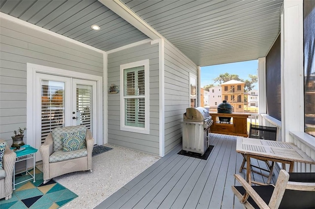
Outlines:
POLYGON ((248 137, 247 118, 250 114, 210 112, 210 115, 213 119, 213 125, 210 127, 211 133, 248 137), (219 117, 229 117, 231 121, 230 123, 221 123, 219 117))

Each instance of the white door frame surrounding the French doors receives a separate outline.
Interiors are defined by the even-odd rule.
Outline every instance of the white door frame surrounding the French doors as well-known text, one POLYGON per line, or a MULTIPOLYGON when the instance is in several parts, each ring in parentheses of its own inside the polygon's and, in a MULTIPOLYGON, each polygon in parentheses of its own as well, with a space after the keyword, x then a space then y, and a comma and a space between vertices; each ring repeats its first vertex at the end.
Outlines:
MULTIPOLYGON (((70 70, 63 70, 55 67, 48 67, 33 63, 27 63, 27 144, 36 148, 35 141, 35 104, 36 104, 36 73, 45 73, 51 75, 65 76, 71 78, 96 81, 96 105, 97 105, 97 127, 96 143, 103 144, 103 88, 101 76, 89 75, 70 70)), ((36 148, 39 149, 39 148, 36 148)))

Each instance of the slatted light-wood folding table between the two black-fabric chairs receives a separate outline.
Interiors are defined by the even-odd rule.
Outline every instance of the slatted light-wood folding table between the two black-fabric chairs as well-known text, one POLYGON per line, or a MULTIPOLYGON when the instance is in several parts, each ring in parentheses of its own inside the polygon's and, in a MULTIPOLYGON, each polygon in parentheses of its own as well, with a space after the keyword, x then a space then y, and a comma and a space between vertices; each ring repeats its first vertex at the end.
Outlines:
MULTIPOLYGON (((285 168, 285 164, 289 164, 289 172, 293 172, 294 162, 315 164, 315 161, 304 151, 293 143, 287 142, 237 137, 236 152, 247 156, 246 180, 250 184, 262 184, 251 180, 251 157, 258 160, 280 162, 283 168, 285 168)), ((273 171, 270 172, 272 174, 273 171)), ((270 183, 270 179, 268 178, 268 183, 270 183)))

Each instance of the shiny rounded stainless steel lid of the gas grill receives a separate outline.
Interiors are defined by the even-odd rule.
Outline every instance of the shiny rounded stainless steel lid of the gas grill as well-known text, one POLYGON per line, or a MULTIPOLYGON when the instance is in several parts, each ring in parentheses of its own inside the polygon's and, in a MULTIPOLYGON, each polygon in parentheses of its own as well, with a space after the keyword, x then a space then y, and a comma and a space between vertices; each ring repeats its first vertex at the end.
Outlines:
POLYGON ((186 109, 186 113, 183 116, 186 121, 203 122, 205 120, 211 120, 212 117, 209 111, 203 107, 189 107, 186 109))

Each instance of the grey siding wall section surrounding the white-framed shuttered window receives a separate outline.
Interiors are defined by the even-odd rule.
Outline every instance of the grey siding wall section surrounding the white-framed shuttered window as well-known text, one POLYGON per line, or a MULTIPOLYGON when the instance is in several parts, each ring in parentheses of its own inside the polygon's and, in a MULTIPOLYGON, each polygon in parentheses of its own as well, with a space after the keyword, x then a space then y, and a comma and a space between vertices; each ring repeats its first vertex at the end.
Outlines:
MULTIPOLYGON (((159 108, 158 108, 158 44, 150 43, 130 47, 108 54, 108 88, 120 85, 120 65, 140 60, 150 61, 150 134, 120 130, 120 92, 108 94, 108 143, 159 154, 159 108)), ((120 87, 122 89, 123 87, 120 87)))

